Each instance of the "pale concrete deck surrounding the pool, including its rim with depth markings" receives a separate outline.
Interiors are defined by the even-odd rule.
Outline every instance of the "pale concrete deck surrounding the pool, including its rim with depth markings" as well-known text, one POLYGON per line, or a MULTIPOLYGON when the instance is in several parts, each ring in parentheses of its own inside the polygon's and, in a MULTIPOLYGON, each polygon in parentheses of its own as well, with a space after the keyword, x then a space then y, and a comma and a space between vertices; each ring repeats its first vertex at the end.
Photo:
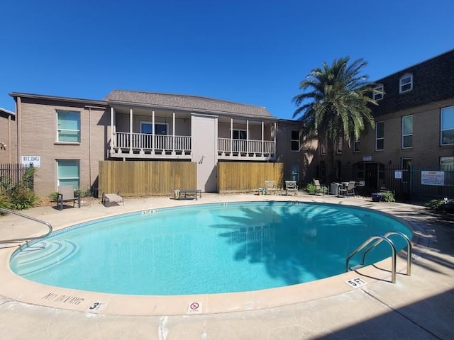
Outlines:
MULTIPOLYGON (((419 205, 303 193, 296 197, 204 193, 197 201, 134 198, 126 199, 124 206, 105 208, 94 200, 80 209, 40 207, 23 213, 61 229, 137 210, 248 200, 357 205, 401 217, 416 229, 411 276, 405 275, 405 258, 399 256, 395 284, 389 282, 390 264, 384 261, 314 283, 216 297, 197 295, 196 300, 67 293, 14 276, 8 262, 17 244, 4 244, 0 339, 454 339, 454 219, 433 215, 419 205), (353 278, 365 285, 353 288, 345 282, 353 278), (89 312, 96 302, 106 305, 97 313, 89 312), (199 303, 199 308, 192 310, 191 302, 199 303)), ((0 239, 45 232, 14 215, 0 217, 0 222, 0 239)))

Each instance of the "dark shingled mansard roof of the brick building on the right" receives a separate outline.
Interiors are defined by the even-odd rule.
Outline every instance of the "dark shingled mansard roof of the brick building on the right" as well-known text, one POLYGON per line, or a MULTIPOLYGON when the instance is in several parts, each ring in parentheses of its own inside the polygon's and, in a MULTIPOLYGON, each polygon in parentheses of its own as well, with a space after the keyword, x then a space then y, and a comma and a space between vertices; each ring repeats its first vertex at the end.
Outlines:
POLYGON ((407 108, 443 101, 454 97, 454 50, 415 64, 387 77, 378 79, 384 96, 372 106, 374 115, 393 113, 407 108), (404 75, 413 76, 413 89, 399 93, 399 79, 404 75))

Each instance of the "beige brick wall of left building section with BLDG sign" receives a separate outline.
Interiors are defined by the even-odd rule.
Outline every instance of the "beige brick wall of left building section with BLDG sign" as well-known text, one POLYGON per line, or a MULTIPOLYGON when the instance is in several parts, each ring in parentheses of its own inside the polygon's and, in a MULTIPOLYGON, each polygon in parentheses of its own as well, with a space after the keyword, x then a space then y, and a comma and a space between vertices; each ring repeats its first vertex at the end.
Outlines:
POLYGON ((35 193, 48 196, 57 191, 57 160, 78 159, 81 188, 92 186, 98 176, 98 162, 106 159, 109 140, 109 111, 84 106, 61 106, 52 103, 21 104, 20 156, 39 156, 40 168, 35 175, 35 193), (58 143, 56 110, 79 111, 80 143, 58 143))

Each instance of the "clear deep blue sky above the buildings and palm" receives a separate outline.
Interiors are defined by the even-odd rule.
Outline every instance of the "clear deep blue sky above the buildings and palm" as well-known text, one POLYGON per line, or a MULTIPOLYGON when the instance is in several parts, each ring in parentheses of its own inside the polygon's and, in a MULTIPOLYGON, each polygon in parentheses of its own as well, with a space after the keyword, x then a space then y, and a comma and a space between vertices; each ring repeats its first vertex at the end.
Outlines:
POLYGON ((454 48, 452 0, 2 1, 0 107, 10 92, 112 89, 265 106, 291 119, 311 69, 338 57, 380 79, 454 48))

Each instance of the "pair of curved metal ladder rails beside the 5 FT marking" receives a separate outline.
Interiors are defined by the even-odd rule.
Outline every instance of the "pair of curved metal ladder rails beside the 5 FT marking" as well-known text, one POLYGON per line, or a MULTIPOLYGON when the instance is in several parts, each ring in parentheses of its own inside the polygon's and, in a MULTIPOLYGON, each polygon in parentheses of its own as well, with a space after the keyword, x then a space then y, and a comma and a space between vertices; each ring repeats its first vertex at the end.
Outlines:
POLYGON ((402 232, 387 232, 383 236, 369 237, 369 239, 367 239, 366 242, 364 242, 363 244, 358 246, 358 248, 355 249, 355 251, 353 251, 347 257, 347 260, 345 261, 345 271, 362 268, 365 263, 366 254, 370 250, 374 249, 375 246, 378 246, 380 243, 382 243, 384 241, 384 242, 387 242, 389 244, 389 246, 391 246, 391 251, 392 251, 391 280, 392 280, 392 283, 396 283, 396 246, 394 246, 394 243, 392 242, 392 240, 389 239, 389 236, 391 236, 391 235, 399 235, 406 242, 406 275, 411 276, 411 242, 410 242, 410 239, 406 236, 406 234, 403 234, 402 232), (367 249, 365 249, 366 246, 368 246, 367 249), (362 251, 362 249, 365 249, 365 251, 362 253, 361 263, 357 266, 353 266, 352 268, 350 268, 348 266, 350 259, 353 256, 355 256, 356 254, 358 254, 360 251, 362 251))

